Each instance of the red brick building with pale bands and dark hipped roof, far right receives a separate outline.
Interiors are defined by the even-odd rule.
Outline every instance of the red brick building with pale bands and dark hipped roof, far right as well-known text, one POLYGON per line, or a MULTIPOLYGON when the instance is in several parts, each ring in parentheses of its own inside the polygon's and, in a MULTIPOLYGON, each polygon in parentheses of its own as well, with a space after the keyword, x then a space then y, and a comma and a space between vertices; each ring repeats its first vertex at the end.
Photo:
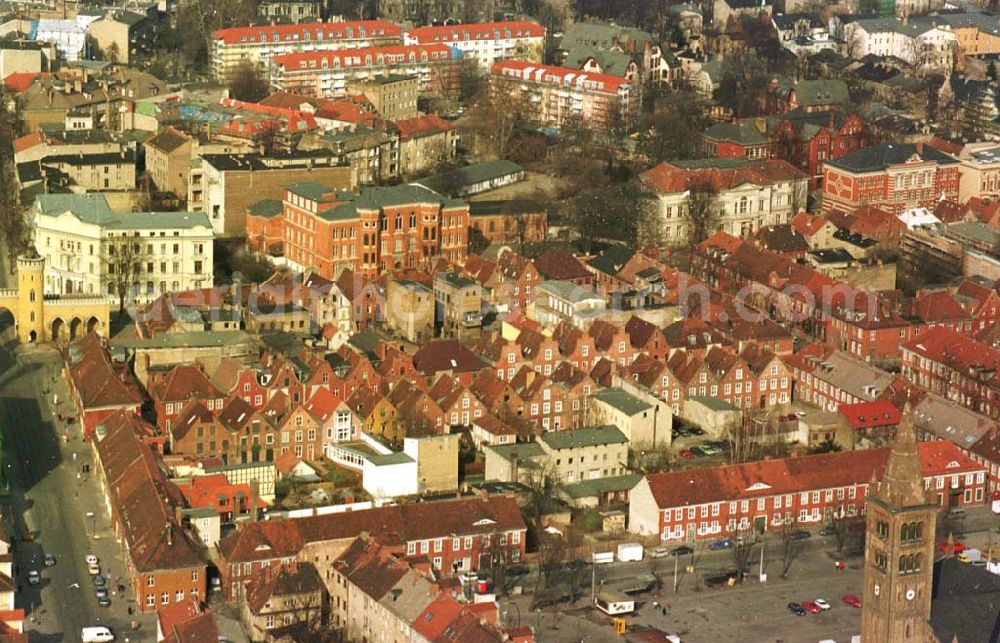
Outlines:
POLYGON ((876 205, 893 214, 958 199, 956 159, 933 147, 891 143, 823 163, 823 212, 876 205))

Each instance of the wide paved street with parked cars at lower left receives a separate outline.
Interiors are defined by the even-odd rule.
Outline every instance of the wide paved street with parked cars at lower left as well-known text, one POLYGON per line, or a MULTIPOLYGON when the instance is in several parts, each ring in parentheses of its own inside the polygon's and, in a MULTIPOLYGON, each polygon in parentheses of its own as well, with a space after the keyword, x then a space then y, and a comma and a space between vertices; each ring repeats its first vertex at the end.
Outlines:
MULTIPOLYGON (((5 336, 9 337, 9 331, 5 336)), ((100 608, 94 596, 86 554, 100 558, 113 589, 125 566, 109 530, 96 478, 78 477, 81 465, 92 463, 90 445, 80 439, 79 425, 70 426, 66 443, 61 431, 65 423, 58 429, 54 426, 55 413, 73 415, 72 406, 66 403, 65 383, 55 377, 58 368, 59 355, 49 348, 22 347, 16 359, 9 351, 0 351, 0 420, 5 475, 10 483, 9 494, 3 497, 5 519, 13 539, 29 532, 36 536, 34 542, 18 542, 15 550, 17 582, 22 589, 17 604, 28 611, 25 629, 33 632, 32 640, 76 640, 81 627, 93 624, 109 625, 119 641, 145 640, 155 636, 151 634, 155 619, 138 617, 144 633, 131 634, 129 624, 134 617, 127 612, 134 605, 133 597, 114 591, 111 607, 100 608), (57 407, 54 395, 59 396, 57 407), (55 556, 54 567, 44 568, 44 554, 55 556), (38 586, 27 583, 31 569, 42 573, 38 586)))

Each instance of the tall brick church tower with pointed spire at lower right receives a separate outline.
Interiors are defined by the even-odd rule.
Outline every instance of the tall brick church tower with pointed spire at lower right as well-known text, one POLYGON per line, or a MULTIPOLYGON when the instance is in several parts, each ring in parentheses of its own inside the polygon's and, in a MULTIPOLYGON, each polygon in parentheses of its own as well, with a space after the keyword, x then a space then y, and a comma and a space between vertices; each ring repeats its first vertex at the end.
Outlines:
POLYGON ((925 640, 938 512, 928 493, 907 402, 885 474, 865 500, 863 643, 925 640))

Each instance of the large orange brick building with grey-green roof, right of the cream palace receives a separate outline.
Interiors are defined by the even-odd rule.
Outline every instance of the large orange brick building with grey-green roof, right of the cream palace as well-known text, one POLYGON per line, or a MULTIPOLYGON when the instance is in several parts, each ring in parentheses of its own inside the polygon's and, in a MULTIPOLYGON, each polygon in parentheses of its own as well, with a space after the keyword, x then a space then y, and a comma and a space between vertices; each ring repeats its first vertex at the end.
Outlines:
POLYGON ((279 226, 285 259, 327 279, 345 269, 371 277, 429 266, 437 257, 465 259, 469 206, 419 186, 370 187, 353 194, 301 183, 286 188, 282 208, 270 216, 273 208, 260 204, 248 211, 247 239, 257 244, 251 247, 264 251, 260 243, 273 238, 279 226))

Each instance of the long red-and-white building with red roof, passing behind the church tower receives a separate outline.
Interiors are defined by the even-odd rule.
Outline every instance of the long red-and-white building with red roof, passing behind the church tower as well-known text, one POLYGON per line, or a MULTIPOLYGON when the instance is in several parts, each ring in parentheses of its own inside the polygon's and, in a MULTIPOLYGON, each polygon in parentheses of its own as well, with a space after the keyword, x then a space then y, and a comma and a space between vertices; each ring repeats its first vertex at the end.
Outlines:
MULTIPOLYGON (((918 451, 924 487, 939 505, 985 502, 982 464, 943 440, 921 442, 918 451)), ((629 494, 629 530, 694 542, 763 533, 786 520, 819 525, 834 513, 863 515, 869 483, 888 457, 888 448, 867 449, 647 475, 629 494)))

